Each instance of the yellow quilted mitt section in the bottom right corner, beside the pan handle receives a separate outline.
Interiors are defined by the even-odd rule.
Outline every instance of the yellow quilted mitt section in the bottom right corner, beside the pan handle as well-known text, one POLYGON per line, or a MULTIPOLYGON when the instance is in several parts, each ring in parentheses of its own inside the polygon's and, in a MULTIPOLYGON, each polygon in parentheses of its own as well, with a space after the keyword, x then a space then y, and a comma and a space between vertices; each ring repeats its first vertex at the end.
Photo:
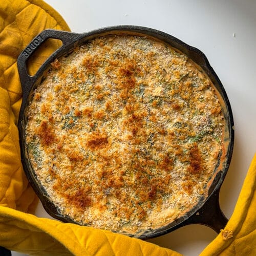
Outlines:
POLYGON ((230 220, 200 255, 256 255, 256 155, 230 220))

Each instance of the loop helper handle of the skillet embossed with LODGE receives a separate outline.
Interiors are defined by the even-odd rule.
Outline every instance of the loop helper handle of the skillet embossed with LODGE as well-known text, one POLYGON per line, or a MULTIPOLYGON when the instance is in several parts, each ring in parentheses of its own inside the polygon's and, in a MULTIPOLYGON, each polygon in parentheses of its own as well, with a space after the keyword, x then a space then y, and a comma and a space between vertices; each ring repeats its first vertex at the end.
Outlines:
POLYGON ((82 37, 82 33, 72 33, 60 30, 47 29, 38 34, 30 42, 30 44, 23 50, 22 53, 18 56, 17 67, 20 82, 22 84, 23 94, 28 95, 30 87, 35 82, 35 77, 28 74, 26 62, 30 56, 35 52, 40 45, 49 38, 59 39, 62 41, 62 46, 58 48, 51 56, 56 56, 63 48, 66 48, 68 45, 73 44, 75 41, 79 40, 82 37))

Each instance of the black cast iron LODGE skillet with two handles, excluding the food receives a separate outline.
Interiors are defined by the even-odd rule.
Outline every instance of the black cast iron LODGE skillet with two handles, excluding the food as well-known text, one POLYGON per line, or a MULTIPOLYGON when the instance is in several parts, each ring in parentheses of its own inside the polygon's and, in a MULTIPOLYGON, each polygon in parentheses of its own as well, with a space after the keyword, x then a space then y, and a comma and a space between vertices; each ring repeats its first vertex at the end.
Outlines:
POLYGON ((18 120, 18 130, 19 130, 19 138, 20 138, 20 148, 21 148, 21 156, 22 163, 24 166, 24 170, 28 177, 29 182, 35 190, 35 193, 39 197, 42 202, 42 205, 45 207, 46 211, 56 219, 59 219, 63 222, 72 222, 70 218, 67 216, 62 216, 58 209, 54 206, 54 204, 48 199, 47 193, 44 188, 38 183, 36 176, 34 174, 33 168, 30 164, 27 149, 25 147, 25 131, 24 126, 26 124, 25 111, 30 102, 31 95, 33 90, 36 88, 37 84, 40 83, 42 77, 50 68, 50 63, 55 59, 63 55, 69 54, 72 49, 83 44, 92 38, 110 34, 139 34, 139 35, 147 35, 157 39, 160 39, 170 46, 180 50, 185 53, 189 58, 194 60, 209 76, 211 81, 214 83, 217 91, 222 98, 222 109, 224 113, 224 118, 226 121, 226 131, 225 131, 225 143, 226 143, 226 152, 223 153, 223 156, 219 159, 219 164, 216 169, 214 180, 212 181, 209 190, 208 196, 206 198, 202 198, 200 202, 186 215, 181 218, 175 220, 174 222, 163 226, 157 230, 148 230, 141 234, 137 234, 136 237, 140 239, 149 239, 161 236, 167 232, 173 231, 179 227, 188 225, 188 224, 203 224, 211 227, 216 232, 219 232, 220 229, 224 228, 227 219, 223 215, 222 210, 219 205, 219 191, 221 184, 225 178, 227 173, 229 163, 231 160, 231 155, 233 151, 233 141, 234 141, 234 131, 233 131, 233 117, 232 111, 230 107, 230 103, 226 92, 222 86, 220 79, 218 78, 215 71, 209 65, 209 62, 206 56, 198 49, 186 45, 181 40, 168 35, 166 33, 160 32, 158 30, 138 27, 138 26, 114 26, 107 27, 98 30, 94 30, 87 33, 70 33, 64 31, 57 30, 45 30, 42 31, 39 35, 37 35, 30 44, 26 47, 26 49, 19 55, 17 60, 18 72, 20 81, 22 83, 23 89, 23 102, 20 108, 19 120, 18 120), (62 46, 57 49, 42 66, 39 68, 37 73, 34 76, 30 76, 28 74, 28 70, 26 67, 26 62, 29 57, 32 55, 34 51, 48 38, 60 39, 62 41, 62 46))

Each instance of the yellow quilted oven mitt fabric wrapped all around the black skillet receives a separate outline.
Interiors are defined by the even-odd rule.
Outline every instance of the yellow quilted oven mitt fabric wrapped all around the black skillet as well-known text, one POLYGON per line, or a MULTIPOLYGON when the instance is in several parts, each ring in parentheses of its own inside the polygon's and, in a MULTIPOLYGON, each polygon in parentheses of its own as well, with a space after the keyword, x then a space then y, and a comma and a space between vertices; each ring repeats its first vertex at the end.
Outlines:
MULTIPOLYGON (((0 1, 0 246, 32 255, 181 255, 110 231, 32 215, 37 197, 20 162, 17 119, 22 89, 16 59, 46 28, 69 30, 41 0, 0 1)), ((47 41, 33 56, 30 71, 58 47, 57 41, 47 41)), ((255 172, 256 157, 230 221, 202 255, 256 255, 255 172)))

